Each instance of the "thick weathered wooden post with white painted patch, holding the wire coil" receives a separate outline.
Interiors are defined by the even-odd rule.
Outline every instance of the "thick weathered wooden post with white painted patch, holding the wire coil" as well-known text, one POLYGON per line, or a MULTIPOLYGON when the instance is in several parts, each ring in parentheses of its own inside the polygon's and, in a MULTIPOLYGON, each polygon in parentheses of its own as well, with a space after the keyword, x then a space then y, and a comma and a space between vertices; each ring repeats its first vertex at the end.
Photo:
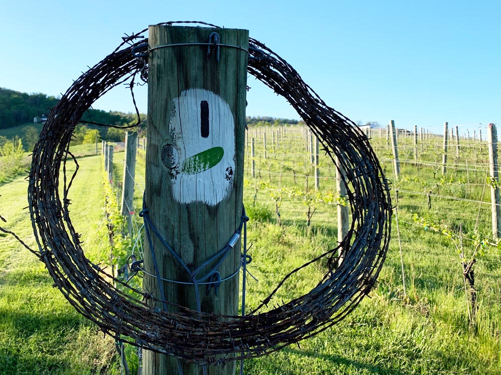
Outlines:
MULTIPOLYGON (((241 222, 247 46, 247 30, 149 27, 145 205, 154 227, 190 270, 223 249, 241 222), (197 44, 207 42, 213 45, 197 44)), ((191 282, 189 272, 151 236, 154 251, 149 243, 144 250, 147 271, 155 273, 154 253, 162 278, 191 282)), ((196 275, 209 276, 205 281, 228 278, 219 285, 195 289, 146 274, 143 288, 193 310, 236 315, 240 262, 235 240, 217 272, 206 273, 215 260, 196 275)), ((177 312, 169 304, 154 306, 177 312)), ((145 350, 144 375, 202 372, 198 365, 145 350)), ((234 374, 235 364, 208 366, 207 373, 234 374)))

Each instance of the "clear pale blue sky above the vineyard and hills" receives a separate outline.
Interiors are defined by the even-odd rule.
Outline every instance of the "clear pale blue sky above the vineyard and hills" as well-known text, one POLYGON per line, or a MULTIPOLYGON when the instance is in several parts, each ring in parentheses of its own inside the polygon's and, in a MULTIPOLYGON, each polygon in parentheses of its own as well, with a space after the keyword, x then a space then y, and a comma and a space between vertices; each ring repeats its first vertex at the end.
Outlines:
MULTIPOLYGON (((437 132, 501 123, 501 1, 7 1, 0 86, 58 95, 124 32, 169 20, 247 28, 354 121, 437 132)), ((299 118, 254 77, 247 115, 299 118)), ((125 88, 94 107, 132 111, 125 88)), ((146 112, 146 91, 139 93, 146 112)))

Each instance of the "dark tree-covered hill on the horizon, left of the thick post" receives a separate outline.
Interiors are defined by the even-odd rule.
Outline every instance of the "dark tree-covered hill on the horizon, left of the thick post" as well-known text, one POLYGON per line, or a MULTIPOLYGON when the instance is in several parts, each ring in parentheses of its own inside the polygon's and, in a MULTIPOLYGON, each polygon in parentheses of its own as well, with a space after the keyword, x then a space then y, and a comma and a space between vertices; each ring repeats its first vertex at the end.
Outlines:
MULTIPOLYGON (((55 96, 43 93, 29 94, 0 87, 0 129, 33 123, 34 117, 48 115, 58 100, 55 96)), ((134 121, 135 117, 130 113, 89 109, 82 119, 107 125, 123 125, 134 121)))

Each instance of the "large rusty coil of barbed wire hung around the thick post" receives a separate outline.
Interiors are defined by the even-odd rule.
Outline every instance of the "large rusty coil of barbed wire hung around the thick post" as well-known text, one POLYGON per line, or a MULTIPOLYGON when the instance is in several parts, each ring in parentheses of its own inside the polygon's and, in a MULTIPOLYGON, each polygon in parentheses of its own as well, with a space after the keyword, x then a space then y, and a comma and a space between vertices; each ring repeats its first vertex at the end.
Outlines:
MULTIPOLYGON (((178 22, 162 24, 174 23, 178 22)), ((47 266, 55 285, 105 333, 199 364, 260 356, 342 320, 374 286, 388 249, 388 181, 365 134, 326 105, 289 63, 254 38, 249 38, 248 72, 289 101, 321 141, 326 154, 333 162, 337 156, 345 171, 343 180, 352 214, 348 235, 339 246, 302 266, 328 259, 324 277, 309 293, 268 309, 266 305, 277 290, 301 267, 292 270, 245 316, 225 317, 183 307, 178 307, 179 313, 170 313, 150 307, 141 290, 118 279, 116 283, 134 293, 114 287, 111 276, 85 256, 69 214, 68 191, 75 174, 61 175, 60 170, 69 162, 76 163, 69 144, 76 125, 94 101, 124 82, 130 83, 132 92, 134 79, 147 75, 147 56, 138 57, 136 53, 147 40, 142 38, 146 31, 124 38, 71 85, 50 112, 34 148, 28 190, 38 243, 34 252, 47 266), (340 248, 344 260, 336 266, 340 248)))

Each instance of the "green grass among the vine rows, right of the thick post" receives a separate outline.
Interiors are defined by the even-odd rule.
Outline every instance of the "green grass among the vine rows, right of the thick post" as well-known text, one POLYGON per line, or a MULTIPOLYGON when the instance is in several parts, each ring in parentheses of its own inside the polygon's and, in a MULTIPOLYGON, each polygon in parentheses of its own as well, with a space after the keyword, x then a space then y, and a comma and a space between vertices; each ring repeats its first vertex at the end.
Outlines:
MULTIPOLYGON (((257 177, 250 175, 249 149, 246 149, 244 202, 258 221, 249 223, 249 254, 253 263, 249 270, 259 282, 249 278, 248 309, 257 306, 275 285, 291 270, 306 260, 336 245, 336 205, 317 204, 310 227, 306 224, 308 206, 297 197, 284 193, 280 207, 283 226, 275 214, 276 188, 304 189, 313 186, 313 172, 305 153, 299 127, 290 127, 281 144, 270 145, 264 158, 262 141, 257 141, 257 177), (293 154, 296 153, 296 154, 293 154), (296 176, 294 176, 296 174, 296 176), (310 174, 307 178, 305 175, 310 174), (308 180, 308 182, 307 182, 308 180), (263 184, 264 183, 264 184, 263 184), (256 201, 256 207, 253 202, 256 201), (270 216, 272 217, 270 221, 270 216), (262 221, 262 222, 260 222, 262 221)), ((276 129, 275 129, 276 130, 276 129)), ((247 135, 253 134, 251 128, 247 135)), ((400 158, 413 161, 410 138, 399 140, 400 158)), ((387 177, 393 179, 391 152, 384 137, 374 137, 372 144, 381 158, 387 177)), ((419 169, 412 163, 401 164, 401 177, 393 190, 422 192, 438 184, 434 193, 471 200, 489 201, 489 186, 482 196, 485 181, 486 144, 464 142, 460 157, 449 147, 448 173, 433 178, 438 137, 428 139, 420 152, 419 169), (450 156, 452 155, 452 156, 450 156), (466 169, 466 163, 468 169, 466 169), (427 165, 431 164, 431 165, 427 165), (462 164, 462 165, 461 165, 462 164), (457 165, 457 166, 456 166, 457 165)), ((117 180, 122 176, 123 155, 116 153, 114 168, 117 180)), ((441 155, 439 160, 441 161, 441 155)), ((440 163, 439 161, 439 163, 440 163)), ((332 161, 320 157, 320 192, 335 191, 335 168, 332 161)), ((136 167, 136 207, 141 204, 144 189, 144 158, 136 167)), ((392 191, 393 205, 395 195, 392 191)), ((476 325, 468 323, 461 264, 457 248, 441 232, 424 230, 413 221, 413 215, 430 223, 448 225, 463 235, 475 231, 489 237, 490 206, 471 201, 432 197, 428 209, 425 195, 399 193, 400 237, 402 243, 406 293, 403 292, 396 223, 393 219, 392 241, 379 281, 380 290, 371 293, 339 324, 306 339, 301 347, 290 346, 278 353, 246 360, 247 374, 500 374, 501 373, 501 252, 487 246, 475 264, 478 291, 476 325), (480 206, 480 211, 479 211, 480 206), (476 224, 478 214, 478 225, 476 224), (408 222, 408 223, 406 223, 408 222), (384 288, 383 288, 384 287, 384 288)), ((465 252, 473 244, 464 240, 465 252)), ((307 293, 325 273, 325 265, 309 266, 286 282, 270 303, 281 303, 307 293)))

